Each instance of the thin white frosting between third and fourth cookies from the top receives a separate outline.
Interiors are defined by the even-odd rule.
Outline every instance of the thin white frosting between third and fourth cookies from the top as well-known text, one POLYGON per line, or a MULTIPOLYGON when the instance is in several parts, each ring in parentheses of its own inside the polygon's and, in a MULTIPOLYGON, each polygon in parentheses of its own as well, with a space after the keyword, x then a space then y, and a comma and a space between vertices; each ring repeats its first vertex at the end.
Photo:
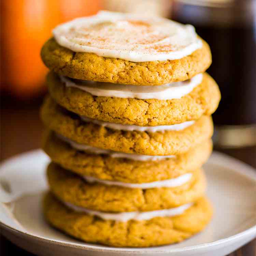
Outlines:
POLYGON ((104 150, 98 147, 91 147, 89 145, 85 144, 79 144, 76 143, 68 138, 65 138, 61 136, 60 134, 56 134, 58 138, 61 140, 67 142, 71 147, 77 149, 77 150, 82 150, 86 151, 89 153, 93 154, 104 154, 104 155, 109 155, 111 157, 115 158, 128 158, 131 160, 137 160, 137 161, 156 161, 156 160, 162 160, 166 158, 175 158, 176 156, 170 155, 170 156, 148 156, 148 155, 136 155, 136 154, 127 154, 127 153, 122 153, 122 152, 116 152, 112 150, 104 150))

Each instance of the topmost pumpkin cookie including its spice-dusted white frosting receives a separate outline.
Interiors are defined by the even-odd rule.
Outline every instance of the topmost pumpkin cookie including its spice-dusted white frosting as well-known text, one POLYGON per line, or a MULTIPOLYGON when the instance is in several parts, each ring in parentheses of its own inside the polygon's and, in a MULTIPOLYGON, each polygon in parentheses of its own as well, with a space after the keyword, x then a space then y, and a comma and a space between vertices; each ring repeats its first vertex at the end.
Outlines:
POLYGON ((211 64, 209 45, 192 26, 109 12, 58 26, 41 57, 60 75, 132 85, 184 81, 211 64))

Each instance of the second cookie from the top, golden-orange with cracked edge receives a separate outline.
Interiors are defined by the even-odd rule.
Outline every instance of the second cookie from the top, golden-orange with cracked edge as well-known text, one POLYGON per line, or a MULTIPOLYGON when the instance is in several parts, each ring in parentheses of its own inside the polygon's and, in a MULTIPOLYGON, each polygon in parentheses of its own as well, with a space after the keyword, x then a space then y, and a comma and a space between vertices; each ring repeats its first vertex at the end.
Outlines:
POLYGON ((197 120, 202 115, 211 115, 221 98, 218 85, 207 73, 189 94, 172 100, 97 97, 66 87, 54 72, 48 74, 47 85, 57 103, 72 112, 106 122, 139 126, 197 120))

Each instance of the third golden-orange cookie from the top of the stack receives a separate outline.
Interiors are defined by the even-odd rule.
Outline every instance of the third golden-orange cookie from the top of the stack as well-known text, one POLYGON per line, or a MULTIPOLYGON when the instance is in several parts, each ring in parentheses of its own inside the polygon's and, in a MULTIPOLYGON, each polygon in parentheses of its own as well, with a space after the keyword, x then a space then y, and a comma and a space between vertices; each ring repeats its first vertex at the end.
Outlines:
POLYGON ((193 125, 180 131, 139 132, 113 130, 93 123, 66 111, 47 97, 41 109, 43 123, 49 129, 80 144, 124 153, 140 155, 176 155, 209 139, 213 123, 202 116, 193 125))

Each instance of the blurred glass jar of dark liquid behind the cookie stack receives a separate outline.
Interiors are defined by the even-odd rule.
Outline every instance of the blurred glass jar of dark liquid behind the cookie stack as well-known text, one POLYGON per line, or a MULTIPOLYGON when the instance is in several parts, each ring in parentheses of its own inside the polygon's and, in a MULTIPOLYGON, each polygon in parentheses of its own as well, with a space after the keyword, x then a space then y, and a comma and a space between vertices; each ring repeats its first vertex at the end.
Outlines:
POLYGON ((256 0, 177 0, 171 18, 194 25, 211 47, 207 72, 222 94, 213 114, 218 142, 256 143, 256 0))

